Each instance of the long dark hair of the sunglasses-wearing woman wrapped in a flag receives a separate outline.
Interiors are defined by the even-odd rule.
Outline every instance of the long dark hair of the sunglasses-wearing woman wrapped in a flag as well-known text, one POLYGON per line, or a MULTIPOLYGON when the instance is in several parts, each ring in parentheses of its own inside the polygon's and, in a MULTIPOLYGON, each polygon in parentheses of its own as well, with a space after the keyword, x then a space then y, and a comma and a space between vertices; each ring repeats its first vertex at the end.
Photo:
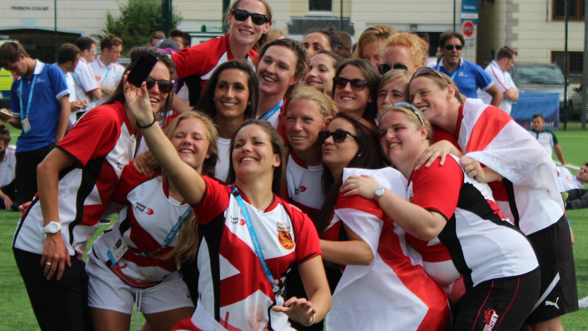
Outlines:
MULTIPOLYGON (((365 61, 365 60, 364 60, 365 61)), ((371 65, 371 64, 370 64, 371 65)), ((343 118, 348 121, 353 128, 355 128, 357 143, 359 146, 359 154, 355 155, 347 167, 349 168, 363 168, 363 169, 379 169, 383 168, 382 158, 380 157, 379 136, 377 134, 376 126, 364 118, 358 118, 355 115, 347 114, 345 112, 338 112, 333 120, 336 118, 343 118)), ((315 226, 319 236, 325 232, 329 225, 333 208, 339 197, 339 189, 343 184, 343 178, 334 178, 328 167, 325 167, 325 172, 322 178, 323 192, 326 192, 323 206, 320 207, 318 216, 316 217, 315 226)))

